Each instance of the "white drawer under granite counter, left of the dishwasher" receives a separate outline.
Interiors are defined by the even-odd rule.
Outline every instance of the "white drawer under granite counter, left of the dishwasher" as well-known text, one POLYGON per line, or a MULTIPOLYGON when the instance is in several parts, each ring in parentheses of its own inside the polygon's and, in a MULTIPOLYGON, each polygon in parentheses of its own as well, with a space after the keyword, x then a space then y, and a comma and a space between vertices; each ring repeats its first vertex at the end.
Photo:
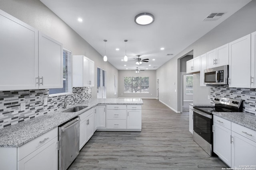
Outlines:
POLYGON ((58 136, 58 127, 44 133, 43 135, 29 141, 18 148, 18 161, 23 159, 28 154, 34 152, 36 149, 44 146, 46 143, 58 136))

